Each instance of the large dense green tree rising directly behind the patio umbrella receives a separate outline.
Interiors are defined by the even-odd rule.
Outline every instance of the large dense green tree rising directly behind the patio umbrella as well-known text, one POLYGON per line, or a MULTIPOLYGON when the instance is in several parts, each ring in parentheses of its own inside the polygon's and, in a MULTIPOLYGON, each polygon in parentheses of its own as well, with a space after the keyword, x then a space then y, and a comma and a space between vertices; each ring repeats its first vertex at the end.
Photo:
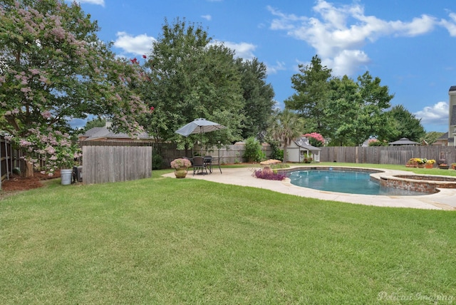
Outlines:
POLYGON ((145 67, 150 81, 144 94, 154 107, 145 115, 144 126, 157 141, 192 148, 200 135, 185 138, 175 130, 196 118, 205 118, 227 128, 203 135, 205 145, 238 140, 244 121, 241 73, 234 52, 221 43, 211 43, 201 26, 165 19, 162 33, 152 43, 145 67))

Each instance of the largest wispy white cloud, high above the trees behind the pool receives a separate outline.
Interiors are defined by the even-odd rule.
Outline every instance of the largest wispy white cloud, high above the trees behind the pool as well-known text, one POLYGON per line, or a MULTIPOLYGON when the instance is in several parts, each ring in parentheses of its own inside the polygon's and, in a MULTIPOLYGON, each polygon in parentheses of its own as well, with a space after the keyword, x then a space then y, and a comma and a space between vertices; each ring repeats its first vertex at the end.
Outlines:
MULTIPOLYGON (((366 43, 382 36, 422 35, 439 24, 428 15, 416 17, 412 21, 386 21, 366 16, 358 1, 350 5, 335 5, 318 0, 313 8, 316 16, 284 14, 271 6, 267 9, 275 17, 270 29, 286 31, 289 36, 309 43, 322 61, 328 63, 328 68, 338 75, 351 75, 370 61, 368 54, 362 51, 366 43)), ((456 16, 452 18, 456 20, 456 16)))

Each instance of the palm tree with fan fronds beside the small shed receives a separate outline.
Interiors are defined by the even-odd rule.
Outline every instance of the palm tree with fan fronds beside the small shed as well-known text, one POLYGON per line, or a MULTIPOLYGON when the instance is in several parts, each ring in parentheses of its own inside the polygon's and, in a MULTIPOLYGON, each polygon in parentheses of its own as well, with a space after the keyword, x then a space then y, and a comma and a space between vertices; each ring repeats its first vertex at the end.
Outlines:
POLYGON ((279 140, 284 145, 284 163, 288 161, 286 148, 291 144, 291 140, 301 135, 303 129, 304 119, 296 113, 287 108, 277 113, 270 132, 274 140, 279 140))

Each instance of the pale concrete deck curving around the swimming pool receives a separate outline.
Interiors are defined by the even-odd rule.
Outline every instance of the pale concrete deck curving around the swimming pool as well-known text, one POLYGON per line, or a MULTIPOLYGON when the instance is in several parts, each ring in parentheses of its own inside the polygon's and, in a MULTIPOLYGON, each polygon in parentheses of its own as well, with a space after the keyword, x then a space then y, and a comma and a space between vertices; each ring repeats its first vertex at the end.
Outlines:
MULTIPOLYGON (((299 168, 299 166, 292 166, 299 168)), ((192 175, 189 170, 187 178, 202 179, 212 182, 224 183, 229 185, 240 185, 244 187, 258 187, 274 192, 281 192, 289 195, 301 197, 318 198, 321 200, 333 200, 338 202, 348 202, 357 205, 374 205, 377 207, 410 207, 415 209, 426 210, 456 210, 456 189, 439 189, 432 195, 420 196, 385 196, 385 195, 357 195, 346 194, 340 192, 327 192, 321 190, 313 190, 306 187, 298 187, 291 185, 290 180, 274 181, 264 180, 253 177, 253 167, 239 168, 223 168, 220 174, 218 168, 214 168, 214 172, 210 175, 192 175)), ((373 170, 379 170, 373 168, 373 170)), ((383 169, 381 169, 383 170, 383 169)), ((401 170, 383 170, 384 172, 374 175, 411 175, 411 172, 401 170)), ((170 172, 165 177, 175 177, 174 172, 170 172)))

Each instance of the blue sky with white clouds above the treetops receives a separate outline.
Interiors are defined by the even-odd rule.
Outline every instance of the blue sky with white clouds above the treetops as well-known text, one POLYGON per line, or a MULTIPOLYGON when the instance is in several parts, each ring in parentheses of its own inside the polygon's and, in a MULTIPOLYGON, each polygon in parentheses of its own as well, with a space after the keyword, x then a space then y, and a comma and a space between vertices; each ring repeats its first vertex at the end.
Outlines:
POLYGON ((119 56, 150 53, 165 18, 200 24, 237 56, 258 58, 283 102, 291 76, 318 54, 333 76, 369 71, 427 131, 446 132, 448 90, 456 86, 454 0, 81 0, 119 56))

